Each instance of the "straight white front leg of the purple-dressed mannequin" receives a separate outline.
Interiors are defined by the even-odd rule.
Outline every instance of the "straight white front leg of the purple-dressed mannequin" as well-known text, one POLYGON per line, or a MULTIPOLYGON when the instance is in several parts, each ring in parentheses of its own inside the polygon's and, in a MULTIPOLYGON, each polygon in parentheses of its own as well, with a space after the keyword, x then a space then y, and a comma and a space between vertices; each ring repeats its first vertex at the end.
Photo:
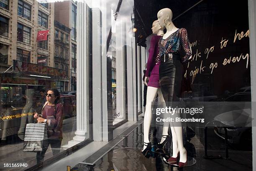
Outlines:
MULTIPOLYGON (((156 98, 156 94, 158 92, 159 88, 156 87, 148 87, 147 89, 147 100, 146 100, 146 110, 144 115, 144 142, 148 143, 148 133, 149 128, 152 120, 152 110, 151 110, 151 104, 154 102, 156 98)), ((146 148, 146 145, 143 146, 143 150, 146 148)))

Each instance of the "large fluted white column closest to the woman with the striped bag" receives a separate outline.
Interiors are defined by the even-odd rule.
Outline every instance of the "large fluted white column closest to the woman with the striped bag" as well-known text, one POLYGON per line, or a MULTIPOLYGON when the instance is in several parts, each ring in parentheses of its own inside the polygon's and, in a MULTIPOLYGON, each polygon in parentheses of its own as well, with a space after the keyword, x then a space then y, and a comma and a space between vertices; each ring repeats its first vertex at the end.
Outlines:
MULTIPOLYGON (((73 140, 64 145, 72 147, 87 138, 89 125, 89 54, 87 34, 87 4, 77 3, 77 130, 73 140)), ((89 135, 89 133, 88 133, 89 135)))

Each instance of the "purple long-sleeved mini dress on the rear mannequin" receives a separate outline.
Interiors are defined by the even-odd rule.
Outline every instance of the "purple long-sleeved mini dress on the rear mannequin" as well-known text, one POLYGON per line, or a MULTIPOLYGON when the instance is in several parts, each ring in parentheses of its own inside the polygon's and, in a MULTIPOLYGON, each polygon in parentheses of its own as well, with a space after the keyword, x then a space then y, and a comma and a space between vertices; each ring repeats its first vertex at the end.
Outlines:
POLYGON ((160 58, 157 56, 159 53, 158 42, 162 36, 153 36, 150 41, 150 48, 148 50, 148 64, 145 76, 148 77, 150 73, 150 77, 148 80, 149 87, 160 88, 159 86, 159 65, 160 58))

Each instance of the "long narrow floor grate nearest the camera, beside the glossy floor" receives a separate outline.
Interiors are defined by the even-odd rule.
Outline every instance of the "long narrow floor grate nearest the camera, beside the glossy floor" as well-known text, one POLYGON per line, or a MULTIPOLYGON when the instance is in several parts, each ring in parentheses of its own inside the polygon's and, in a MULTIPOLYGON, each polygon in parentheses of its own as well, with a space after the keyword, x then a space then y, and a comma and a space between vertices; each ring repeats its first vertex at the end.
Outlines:
POLYGON ((109 141, 106 145, 104 145, 102 148, 100 148, 98 151, 93 153, 91 156, 87 157, 84 161, 80 162, 83 164, 90 164, 94 165, 100 158, 102 158, 106 153, 108 153, 110 150, 112 150, 115 145, 118 145, 124 137, 116 137, 113 140, 109 141))

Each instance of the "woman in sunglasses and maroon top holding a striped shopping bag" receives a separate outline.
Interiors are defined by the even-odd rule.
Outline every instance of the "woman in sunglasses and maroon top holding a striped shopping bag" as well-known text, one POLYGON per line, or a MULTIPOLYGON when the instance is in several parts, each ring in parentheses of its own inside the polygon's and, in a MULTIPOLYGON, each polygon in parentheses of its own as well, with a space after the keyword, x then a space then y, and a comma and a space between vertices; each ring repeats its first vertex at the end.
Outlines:
POLYGON ((46 93, 46 102, 42 109, 42 114, 36 113, 34 118, 38 123, 46 123, 48 139, 43 144, 43 150, 37 152, 36 161, 41 163, 44 161, 44 155, 47 148, 51 145, 52 153, 55 156, 59 153, 62 141, 62 121, 63 106, 59 103, 60 94, 57 89, 49 89, 46 93))

